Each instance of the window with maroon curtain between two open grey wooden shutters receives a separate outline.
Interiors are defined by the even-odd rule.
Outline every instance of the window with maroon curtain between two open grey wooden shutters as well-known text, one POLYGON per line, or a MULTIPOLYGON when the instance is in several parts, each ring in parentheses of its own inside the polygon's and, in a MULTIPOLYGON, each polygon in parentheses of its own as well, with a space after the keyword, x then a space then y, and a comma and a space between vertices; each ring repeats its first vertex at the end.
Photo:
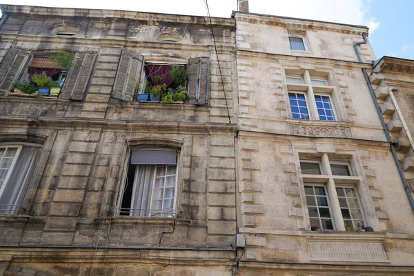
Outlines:
MULTIPOLYGON (((119 59, 117 76, 112 88, 112 98, 129 102, 137 101, 142 94, 150 94, 148 87, 163 86, 164 84, 165 87, 162 88, 162 93, 172 93, 173 88, 177 86, 172 82, 170 72, 176 67, 187 70, 186 81, 184 82, 186 88, 185 102, 199 106, 205 105, 208 103, 209 62, 208 57, 190 58, 186 63, 177 63, 174 59, 168 59, 167 57, 165 61, 160 57, 157 57, 156 60, 148 59, 146 61, 144 55, 124 49, 119 59), (168 88, 171 88, 171 90, 168 90, 168 88)), ((141 98, 141 100, 143 99, 141 98)))

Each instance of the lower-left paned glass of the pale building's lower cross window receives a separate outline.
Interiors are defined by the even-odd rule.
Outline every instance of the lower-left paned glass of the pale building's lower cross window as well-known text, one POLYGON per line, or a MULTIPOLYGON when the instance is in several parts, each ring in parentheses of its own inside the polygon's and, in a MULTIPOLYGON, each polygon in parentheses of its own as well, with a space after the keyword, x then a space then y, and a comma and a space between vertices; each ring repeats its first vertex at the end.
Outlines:
POLYGON ((311 227, 333 230, 331 208, 324 186, 305 186, 311 227))

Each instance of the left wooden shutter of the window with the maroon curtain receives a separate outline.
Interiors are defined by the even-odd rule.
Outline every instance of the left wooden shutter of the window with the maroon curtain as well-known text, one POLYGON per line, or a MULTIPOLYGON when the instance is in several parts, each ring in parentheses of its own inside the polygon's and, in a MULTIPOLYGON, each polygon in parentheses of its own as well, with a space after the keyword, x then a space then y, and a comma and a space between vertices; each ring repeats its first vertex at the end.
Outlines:
POLYGON ((112 88, 112 98, 122 101, 133 101, 135 97, 135 83, 140 80, 144 56, 137 52, 123 49, 119 59, 117 76, 112 88))

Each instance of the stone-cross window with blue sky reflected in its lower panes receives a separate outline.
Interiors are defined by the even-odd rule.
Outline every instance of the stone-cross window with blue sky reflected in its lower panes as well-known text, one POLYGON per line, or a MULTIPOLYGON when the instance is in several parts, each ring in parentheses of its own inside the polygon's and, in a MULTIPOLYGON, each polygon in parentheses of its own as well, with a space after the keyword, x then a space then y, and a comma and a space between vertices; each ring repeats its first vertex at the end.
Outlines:
POLYGON ((310 77, 306 70, 303 76, 286 75, 286 86, 293 119, 337 120, 331 97, 333 88, 328 86, 327 79, 310 77))

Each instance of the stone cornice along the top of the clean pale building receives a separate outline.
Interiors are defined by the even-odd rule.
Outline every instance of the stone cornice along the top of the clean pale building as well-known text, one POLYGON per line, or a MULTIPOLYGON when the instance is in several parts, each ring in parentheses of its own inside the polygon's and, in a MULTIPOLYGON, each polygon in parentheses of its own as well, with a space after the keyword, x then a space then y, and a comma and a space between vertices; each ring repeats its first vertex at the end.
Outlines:
POLYGON ((291 30, 326 30, 330 32, 340 32, 344 34, 362 35, 368 33, 365 26, 346 25, 341 23, 313 21, 308 19, 296 19, 288 17, 277 17, 266 14, 252 14, 235 12, 237 22, 248 22, 253 24, 265 24, 268 26, 279 26, 291 30))

